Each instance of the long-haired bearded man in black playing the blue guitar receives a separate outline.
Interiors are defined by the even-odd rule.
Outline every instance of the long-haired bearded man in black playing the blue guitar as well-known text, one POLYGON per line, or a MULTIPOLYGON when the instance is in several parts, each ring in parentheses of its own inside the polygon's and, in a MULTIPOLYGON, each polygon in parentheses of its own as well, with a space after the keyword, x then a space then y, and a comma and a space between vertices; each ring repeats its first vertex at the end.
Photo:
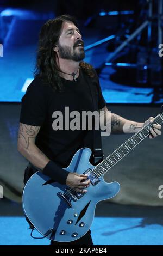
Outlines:
MULTIPOLYGON (((93 131, 54 129, 54 111, 68 106, 70 111, 95 111, 90 86, 96 95, 98 109, 108 112, 95 70, 83 62, 84 42, 76 20, 62 15, 49 20, 40 32, 35 78, 22 98, 18 151, 33 169, 51 179, 86 193, 90 185, 87 175, 68 172, 76 151, 83 147, 93 150, 93 131)), ((63 120, 65 120, 65 116, 63 120)), ((104 121, 107 115, 105 115, 104 121)), ((153 118, 150 118, 153 121, 153 118)), ((135 133, 145 123, 137 123, 111 113, 112 133, 135 133)), ((161 134, 161 125, 154 124, 149 138, 161 134)), ((93 156, 91 156, 93 161, 93 156)), ((80 239, 68 244, 93 245, 90 230, 80 239)), ((52 245, 61 245, 51 242, 52 245)), ((64 243, 67 244, 67 243, 64 243)))

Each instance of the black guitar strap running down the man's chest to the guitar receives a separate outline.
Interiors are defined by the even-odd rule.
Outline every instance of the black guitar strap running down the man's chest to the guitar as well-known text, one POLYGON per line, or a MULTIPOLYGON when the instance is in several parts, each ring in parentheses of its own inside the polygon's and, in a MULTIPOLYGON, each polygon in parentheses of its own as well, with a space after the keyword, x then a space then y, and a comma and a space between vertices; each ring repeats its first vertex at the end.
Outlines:
MULTIPOLYGON (((84 72, 83 72, 84 73, 84 72)), ((98 90, 97 90, 97 81, 96 79, 90 78, 84 74, 85 80, 89 86, 93 109, 99 111, 98 109, 98 90)), ((101 141, 101 130, 93 129, 93 162, 94 164, 98 164, 103 160, 103 150, 102 150, 102 141, 101 141)))

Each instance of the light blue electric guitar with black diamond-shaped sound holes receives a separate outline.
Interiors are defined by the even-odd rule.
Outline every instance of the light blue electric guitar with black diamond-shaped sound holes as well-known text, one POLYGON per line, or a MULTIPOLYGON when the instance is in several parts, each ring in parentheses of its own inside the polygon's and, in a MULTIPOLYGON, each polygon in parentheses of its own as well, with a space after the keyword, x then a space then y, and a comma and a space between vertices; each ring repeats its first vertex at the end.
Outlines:
MULTIPOLYGON (((163 123, 163 112, 154 123, 163 123)), ((85 235, 92 224, 96 204, 120 191, 118 182, 104 181, 104 174, 149 135, 151 126, 144 126, 98 166, 90 164, 89 148, 77 151, 65 170, 88 175, 91 184, 85 194, 50 180, 41 172, 35 173, 24 187, 22 196, 24 214, 35 229, 48 239, 59 242, 74 241, 85 235)))

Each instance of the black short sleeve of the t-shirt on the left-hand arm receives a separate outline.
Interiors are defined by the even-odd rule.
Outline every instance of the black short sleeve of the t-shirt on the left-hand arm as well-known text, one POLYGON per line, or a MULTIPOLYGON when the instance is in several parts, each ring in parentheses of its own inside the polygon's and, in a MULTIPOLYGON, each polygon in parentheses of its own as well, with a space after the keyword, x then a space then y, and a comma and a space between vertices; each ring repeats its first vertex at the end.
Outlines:
POLYGON ((20 122, 23 124, 41 126, 46 117, 45 86, 39 78, 35 78, 22 97, 20 122))

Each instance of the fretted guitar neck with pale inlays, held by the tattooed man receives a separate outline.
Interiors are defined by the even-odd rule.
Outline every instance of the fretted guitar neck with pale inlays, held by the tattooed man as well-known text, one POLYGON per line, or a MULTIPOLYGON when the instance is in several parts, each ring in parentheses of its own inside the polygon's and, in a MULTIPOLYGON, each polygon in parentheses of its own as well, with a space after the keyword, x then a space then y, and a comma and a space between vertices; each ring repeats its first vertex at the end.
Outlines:
POLYGON ((117 162, 123 159, 132 149, 134 149, 140 142, 143 141, 150 134, 149 129, 153 124, 162 124, 163 123, 163 112, 157 115, 153 123, 148 123, 143 126, 140 131, 135 133, 128 141, 122 144, 118 149, 116 149, 111 155, 106 157, 101 163, 93 168, 93 172, 97 175, 98 178, 103 176, 109 169, 111 169, 117 162))

